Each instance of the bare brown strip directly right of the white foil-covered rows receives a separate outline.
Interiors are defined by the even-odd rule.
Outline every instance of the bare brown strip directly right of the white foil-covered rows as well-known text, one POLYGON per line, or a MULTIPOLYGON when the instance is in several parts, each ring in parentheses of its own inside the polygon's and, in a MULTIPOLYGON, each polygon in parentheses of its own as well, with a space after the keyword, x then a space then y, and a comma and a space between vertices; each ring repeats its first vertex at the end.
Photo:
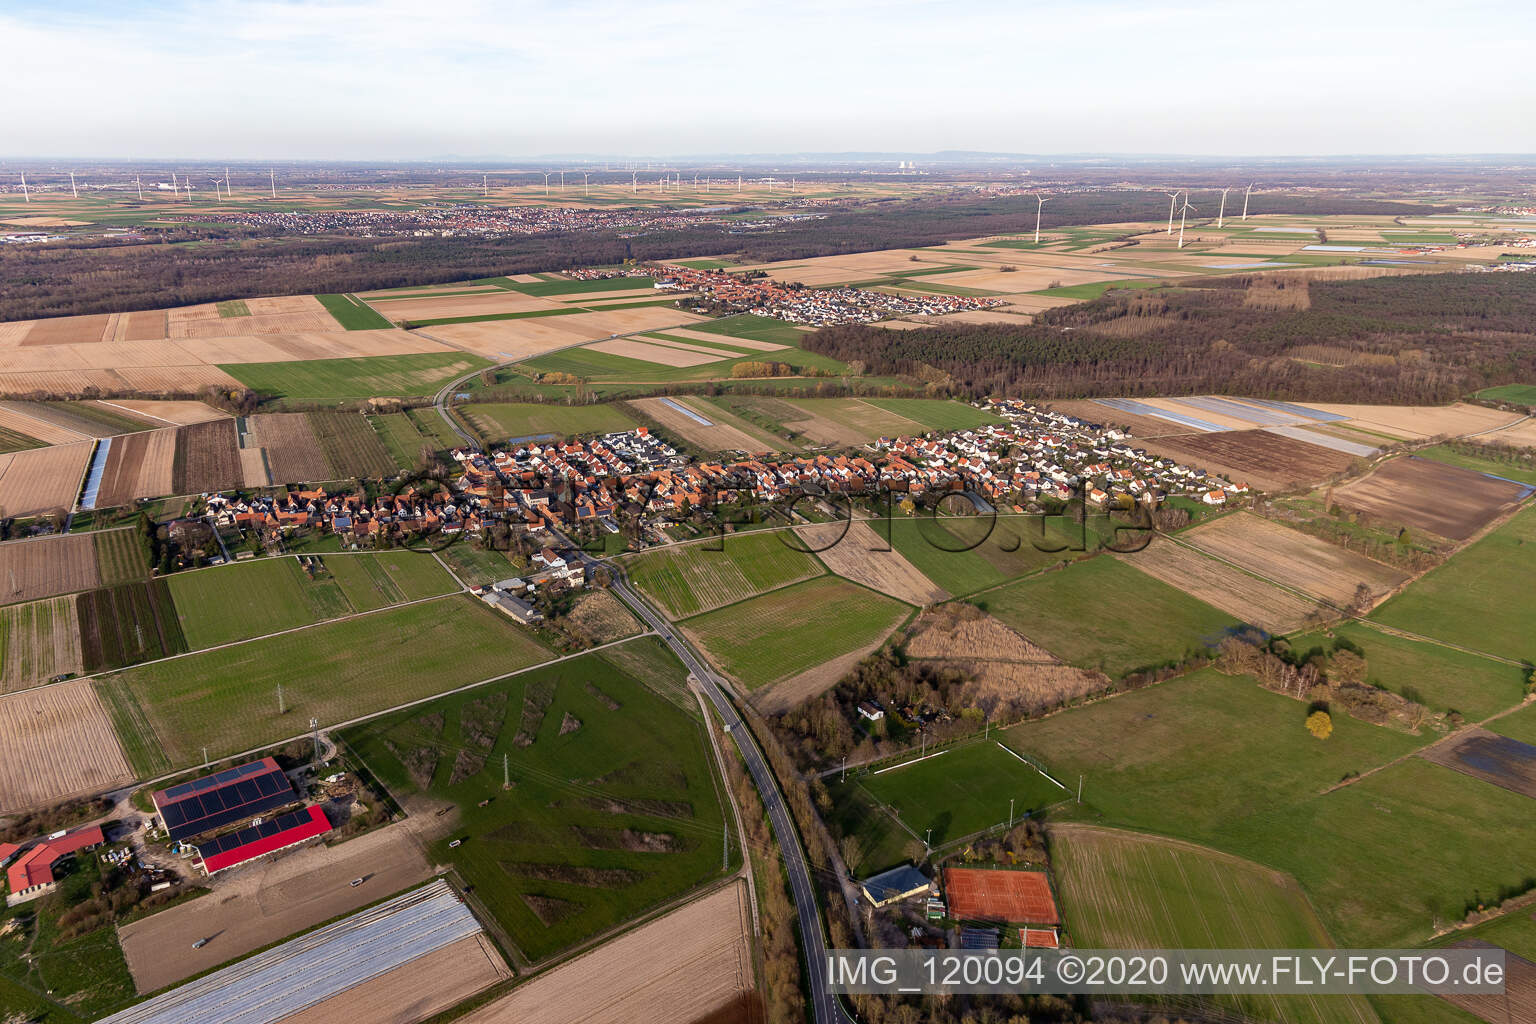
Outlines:
POLYGON ((484 932, 369 978, 280 1024, 418 1024, 511 976, 484 932))

